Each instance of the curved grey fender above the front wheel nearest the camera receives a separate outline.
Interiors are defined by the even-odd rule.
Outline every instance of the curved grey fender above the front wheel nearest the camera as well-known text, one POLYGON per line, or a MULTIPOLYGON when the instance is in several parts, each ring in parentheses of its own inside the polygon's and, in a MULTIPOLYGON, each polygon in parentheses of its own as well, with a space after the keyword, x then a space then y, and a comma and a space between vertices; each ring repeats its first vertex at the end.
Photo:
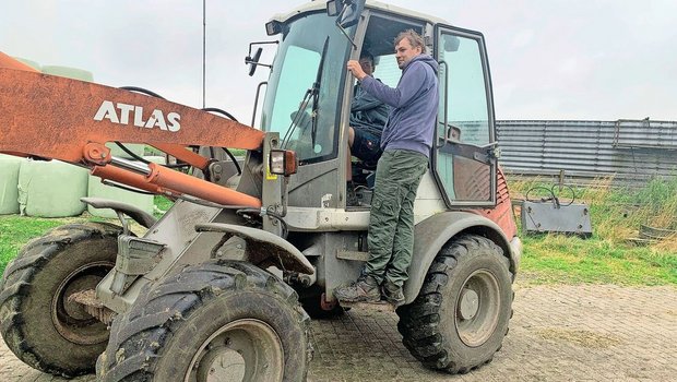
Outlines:
POLYGON ((195 225, 195 230, 199 232, 223 232, 241 238, 247 242, 246 260, 254 265, 272 263, 281 270, 308 275, 314 274, 312 264, 296 247, 266 230, 219 223, 199 224, 195 225))

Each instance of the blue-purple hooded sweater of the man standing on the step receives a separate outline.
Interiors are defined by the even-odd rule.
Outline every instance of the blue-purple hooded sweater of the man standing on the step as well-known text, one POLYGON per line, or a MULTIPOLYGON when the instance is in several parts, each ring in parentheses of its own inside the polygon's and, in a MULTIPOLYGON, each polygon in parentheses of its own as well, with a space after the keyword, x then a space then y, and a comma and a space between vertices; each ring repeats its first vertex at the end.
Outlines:
POLYGON ((392 106, 381 136, 381 148, 411 150, 430 155, 439 105, 438 64, 428 55, 414 57, 402 70, 397 87, 392 88, 371 76, 361 87, 392 106))

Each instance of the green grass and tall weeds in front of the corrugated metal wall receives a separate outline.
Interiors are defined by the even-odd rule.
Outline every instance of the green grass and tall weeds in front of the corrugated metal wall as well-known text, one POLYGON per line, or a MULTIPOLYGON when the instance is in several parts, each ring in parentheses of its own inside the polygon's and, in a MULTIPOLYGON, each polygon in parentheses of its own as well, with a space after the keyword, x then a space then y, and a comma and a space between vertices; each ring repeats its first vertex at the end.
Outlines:
MULTIPOLYGON (((641 225, 677 228, 677 178, 652 180, 642 189, 613 189, 610 179, 577 188, 577 202, 590 206, 593 236, 522 236, 521 278, 531 283, 594 283, 616 285, 677 285, 677 237, 637 244, 641 225)), ((512 193, 524 195, 538 181, 513 182, 512 193)), ((570 200, 571 192, 560 196, 570 200)), ((530 193, 530 199, 542 196, 530 193)))

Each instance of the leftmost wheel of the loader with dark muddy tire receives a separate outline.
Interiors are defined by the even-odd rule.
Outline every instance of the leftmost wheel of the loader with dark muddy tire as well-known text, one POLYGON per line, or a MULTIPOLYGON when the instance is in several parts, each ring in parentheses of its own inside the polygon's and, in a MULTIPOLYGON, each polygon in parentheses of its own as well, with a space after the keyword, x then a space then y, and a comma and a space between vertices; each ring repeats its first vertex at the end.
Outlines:
POLYGON ((63 377, 94 371, 108 330, 68 297, 94 289, 115 266, 121 230, 106 223, 58 227, 28 242, 8 265, 0 332, 19 359, 63 377))

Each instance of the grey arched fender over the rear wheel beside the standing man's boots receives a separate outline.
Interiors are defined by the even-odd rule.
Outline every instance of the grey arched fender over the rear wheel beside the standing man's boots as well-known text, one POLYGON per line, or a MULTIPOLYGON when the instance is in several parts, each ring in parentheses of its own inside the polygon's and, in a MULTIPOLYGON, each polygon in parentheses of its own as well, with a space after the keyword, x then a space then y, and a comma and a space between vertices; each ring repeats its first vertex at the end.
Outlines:
POLYGON ((443 212, 418 223, 414 228, 414 254, 409 265, 409 278, 404 284, 405 303, 416 299, 432 260, 442 247, 462 231, 486 236, 503 250, 510 260, 510 271, 516 274, 520 251, 513 249, 500 227, 484 216, 468 212, 443 212))

